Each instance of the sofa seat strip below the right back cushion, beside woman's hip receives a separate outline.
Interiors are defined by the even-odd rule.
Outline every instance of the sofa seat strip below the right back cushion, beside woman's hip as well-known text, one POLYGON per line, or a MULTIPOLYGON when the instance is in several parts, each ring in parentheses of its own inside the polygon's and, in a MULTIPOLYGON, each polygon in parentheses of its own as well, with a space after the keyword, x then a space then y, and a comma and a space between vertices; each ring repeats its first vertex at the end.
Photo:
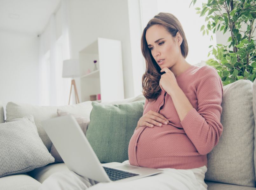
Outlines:
POLYGON ((208 190, 256 190, 255 187, 246 187, 246 186, 239 186, 239 185, 232 185, 232 184, 225 184, 225 183, 216 183, 211 181, 205 181, 208 186, 208 190))

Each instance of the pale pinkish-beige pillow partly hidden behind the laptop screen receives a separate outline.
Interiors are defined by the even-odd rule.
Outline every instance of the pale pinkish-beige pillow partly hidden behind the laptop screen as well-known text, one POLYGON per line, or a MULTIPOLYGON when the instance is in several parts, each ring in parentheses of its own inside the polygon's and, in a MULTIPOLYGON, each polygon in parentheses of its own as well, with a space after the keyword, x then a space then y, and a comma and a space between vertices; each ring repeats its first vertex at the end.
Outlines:
MULTIPOLYGON (((72 114, 69 113, 67 111, 61 111, 58 109, 57 111, 58 116, 66 116, 66 115, 72 115, 75 117, 77 123, 80 125, 82 131, 84 132, 84 134, 86 133, 88 124, 90 123, 90 119, 86 118, 86 117, 82 117, 80 115, 77 114, 72 114)), ((60 157, 57 149, 55 148, 55 146, 52 144, 52 148, 51 148, 51 155, 55 158, 55 163, 57 162, 63 162, 62 158, 60 157)))

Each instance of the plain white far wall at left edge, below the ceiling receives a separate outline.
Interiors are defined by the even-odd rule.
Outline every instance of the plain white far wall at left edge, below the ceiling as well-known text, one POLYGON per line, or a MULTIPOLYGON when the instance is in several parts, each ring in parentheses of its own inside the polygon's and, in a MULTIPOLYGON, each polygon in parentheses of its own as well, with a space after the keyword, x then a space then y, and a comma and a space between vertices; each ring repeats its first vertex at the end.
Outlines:
POLYGON ((0 29, 0 101, 38 104, 38 37, 0 29))

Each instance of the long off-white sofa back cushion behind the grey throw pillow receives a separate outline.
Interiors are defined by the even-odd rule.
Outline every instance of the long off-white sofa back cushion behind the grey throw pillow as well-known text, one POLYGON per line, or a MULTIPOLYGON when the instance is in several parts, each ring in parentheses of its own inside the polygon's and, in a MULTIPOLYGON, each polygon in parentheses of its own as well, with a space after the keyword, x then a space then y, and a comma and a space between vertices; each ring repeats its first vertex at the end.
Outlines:
POLYGON ((17 104, 14 102, 8 102, 6 105, 6 121, 8 122, 15 118, 33 115, 38 134, 46 148, 50 151, 52 142, 45 133, 41 122, 52 117, 57 117, 57 109, 60 111, 68 111, 73 114, 80 114, 83 117, 89 118, 92 105, 91 101, 66 106, 35 106, 30 104, 17 104))

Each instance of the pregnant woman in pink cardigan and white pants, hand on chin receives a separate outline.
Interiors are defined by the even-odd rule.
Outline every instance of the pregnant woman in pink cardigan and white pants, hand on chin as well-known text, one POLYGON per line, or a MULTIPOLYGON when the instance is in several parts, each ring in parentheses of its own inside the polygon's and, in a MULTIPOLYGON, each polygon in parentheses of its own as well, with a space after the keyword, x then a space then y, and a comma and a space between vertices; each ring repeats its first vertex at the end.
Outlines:
POLYGON ((215 68, 185 60, 187 40, 170 13, 159 13, 149 21, 141 47, 146 101, 124 163, 163 169, 163 173, 114 183, 97 183, 73 172, 56 173, 40 189, 207 189, 207 154, 223 131, 221 79, 215 68))

